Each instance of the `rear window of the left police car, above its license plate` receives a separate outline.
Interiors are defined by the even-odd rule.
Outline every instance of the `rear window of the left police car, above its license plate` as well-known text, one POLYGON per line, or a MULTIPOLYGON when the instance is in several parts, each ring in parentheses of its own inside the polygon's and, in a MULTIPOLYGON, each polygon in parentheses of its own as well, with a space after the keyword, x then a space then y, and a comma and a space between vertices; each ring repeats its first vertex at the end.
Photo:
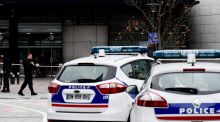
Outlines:
POLYGON ((94 83, 104 80, 110 80, 115 77, 116 67, 88 65, 88 66, 66 66, 58 80, 70 83, 94 83))

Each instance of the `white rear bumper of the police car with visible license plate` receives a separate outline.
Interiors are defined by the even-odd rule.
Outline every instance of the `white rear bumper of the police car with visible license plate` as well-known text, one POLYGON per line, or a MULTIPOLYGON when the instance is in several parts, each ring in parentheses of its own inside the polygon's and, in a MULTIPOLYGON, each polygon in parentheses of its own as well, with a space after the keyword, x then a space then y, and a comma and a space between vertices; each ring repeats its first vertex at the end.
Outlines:
POLYGON ((128 99, 126 94, 111 96, 108 109, 100 113, 57 112, 49 105, 47 116, 49 120, 126 122, 132 108, 132 101, 128 99))

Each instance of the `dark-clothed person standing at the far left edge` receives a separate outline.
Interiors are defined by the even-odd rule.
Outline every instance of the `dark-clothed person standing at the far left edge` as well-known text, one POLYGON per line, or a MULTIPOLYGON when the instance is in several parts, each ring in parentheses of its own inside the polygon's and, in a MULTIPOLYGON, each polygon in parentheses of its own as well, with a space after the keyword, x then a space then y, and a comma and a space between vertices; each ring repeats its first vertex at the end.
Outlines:
POLYGON ((4 72, 4 85, 1 92, 10 92, 9 89, 9 76, 11 72, 12 63, 11 60, 7 57, 3 57, 3 72, 4 72))

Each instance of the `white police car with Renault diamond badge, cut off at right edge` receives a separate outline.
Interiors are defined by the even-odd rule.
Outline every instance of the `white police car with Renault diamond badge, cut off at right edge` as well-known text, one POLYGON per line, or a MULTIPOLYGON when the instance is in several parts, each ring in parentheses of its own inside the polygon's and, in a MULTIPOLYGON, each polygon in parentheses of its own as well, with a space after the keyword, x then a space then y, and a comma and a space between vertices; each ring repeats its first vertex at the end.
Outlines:
POLYGON ((220 122, 220 63, 195 62, 193 56, 216 59, 220 50, 164 50, 154 52, 154 57, 183 60, 187 54, 188 63, 152 68, 137 96, 131 122, 220 122))

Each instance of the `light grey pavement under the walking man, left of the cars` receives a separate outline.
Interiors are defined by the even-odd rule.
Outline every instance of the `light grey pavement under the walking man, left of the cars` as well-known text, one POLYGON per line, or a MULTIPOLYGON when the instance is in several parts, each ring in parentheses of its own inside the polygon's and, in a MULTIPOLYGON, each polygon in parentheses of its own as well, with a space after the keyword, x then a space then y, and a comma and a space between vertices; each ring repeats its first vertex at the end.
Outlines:
POLYGON ((38 95, 31 96, 27 86, 23 93, 18 91, 24 79, 19 84, 10 85, 10 93, 0 92, 0 122, 47 122, 48 84, 53 78, 34 78, 33 86, 38 95))

